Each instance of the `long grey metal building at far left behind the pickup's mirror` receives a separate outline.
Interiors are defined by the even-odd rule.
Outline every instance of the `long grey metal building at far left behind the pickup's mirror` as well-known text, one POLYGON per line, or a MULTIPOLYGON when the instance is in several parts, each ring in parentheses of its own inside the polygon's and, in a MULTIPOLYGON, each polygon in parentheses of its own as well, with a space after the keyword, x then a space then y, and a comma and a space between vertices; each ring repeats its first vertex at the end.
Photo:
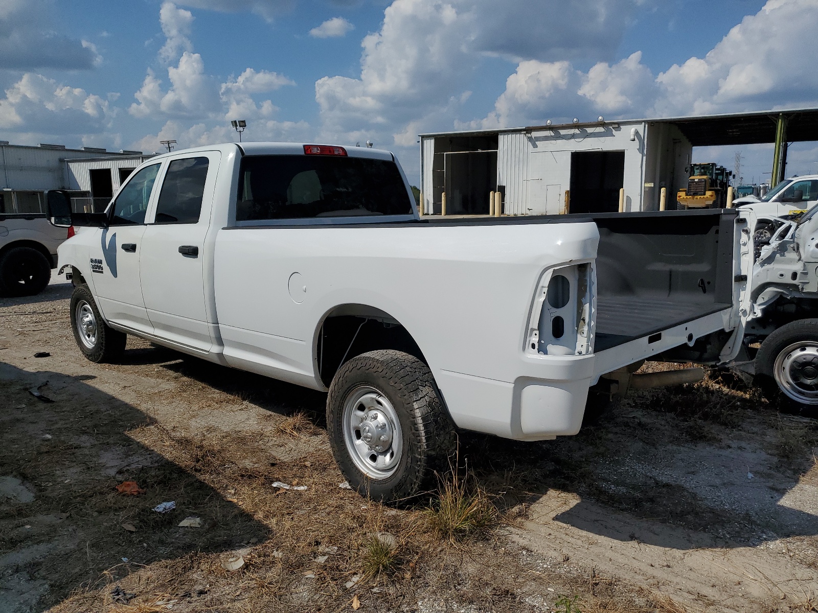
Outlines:
MULTIPOLYGON (((118 166, 122 160, 136 168, 134 158, 142 151, 106 151, 97 147, 68 149, 65 145, 38 146, 10 145, 0 141, 0 213, 40 213, 43 211, 43 191, 76 190, 78 197, 96 196, 89 170, 84 167, 71 168, 71 163, 107 164, 107 168, 118 166)), ((89 167, 90 168, 90 167, 89 167)), ((109 176, 111 171, 108 170, 109 176)), ((110 183, 105 193, 99 194, 110 199, 113 189, 119 187, 120 175, 110 183)), ((105 190, 104 181, 99 184, 105 190)))

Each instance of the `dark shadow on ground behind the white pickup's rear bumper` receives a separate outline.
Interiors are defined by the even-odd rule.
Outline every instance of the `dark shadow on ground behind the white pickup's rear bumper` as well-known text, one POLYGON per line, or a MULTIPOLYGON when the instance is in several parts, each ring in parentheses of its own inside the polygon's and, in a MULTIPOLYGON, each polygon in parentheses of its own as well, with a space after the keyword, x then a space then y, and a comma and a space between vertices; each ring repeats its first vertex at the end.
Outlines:
POLYGON ((753 402, 742 405, 717 386, 642 393, 578 436, 537 443, 465 436, 461 457, 489 490, 504 492, 507 507, 559 490, 578 501, 555 508, 555 521, 611 539, 686 549, 816 536, 809 437, 782 458, 776 450, 789 431, 772 427, 795 420, 788 427, 814 436, 816 426, 753 402), (662 525, 689 538, 654 530, 662 525))

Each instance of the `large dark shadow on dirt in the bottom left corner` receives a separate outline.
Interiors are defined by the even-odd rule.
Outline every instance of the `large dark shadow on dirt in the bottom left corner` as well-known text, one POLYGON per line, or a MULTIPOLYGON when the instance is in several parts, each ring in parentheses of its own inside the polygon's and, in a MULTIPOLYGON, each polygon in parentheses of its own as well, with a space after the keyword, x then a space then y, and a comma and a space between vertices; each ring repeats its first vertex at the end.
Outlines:
POLYGON ((129 433, 131 405, 83 383, 0 362, 0 611, 42 611, 139 565, 222 552, 267 527, 129 433), (36 399, 29 389, 48 382, 36 399), (143 494, 115 486, 137 481, 143 494), (167 513, 151 510, 174 501, 167 513), (178 527, 186 517, 202 527, 178 527), (107 575, 102 575, 106 572, 107 575))

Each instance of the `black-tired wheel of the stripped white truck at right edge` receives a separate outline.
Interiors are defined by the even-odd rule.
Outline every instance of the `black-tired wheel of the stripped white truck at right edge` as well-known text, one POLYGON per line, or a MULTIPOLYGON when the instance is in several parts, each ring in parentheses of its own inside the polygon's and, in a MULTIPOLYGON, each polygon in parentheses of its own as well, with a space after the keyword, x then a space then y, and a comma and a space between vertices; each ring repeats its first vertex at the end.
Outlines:
POLYGON ((771 333, 758 349, 755 371, 755 383, 777 409, 818 417, 818 319, 791 321, 771 333))

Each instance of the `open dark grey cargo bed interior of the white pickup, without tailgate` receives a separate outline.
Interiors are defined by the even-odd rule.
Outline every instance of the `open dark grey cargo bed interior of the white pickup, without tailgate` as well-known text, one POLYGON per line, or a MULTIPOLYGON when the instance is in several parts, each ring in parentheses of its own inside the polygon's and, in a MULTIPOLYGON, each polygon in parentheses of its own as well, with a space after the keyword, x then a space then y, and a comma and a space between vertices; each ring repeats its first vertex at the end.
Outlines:
POLYGON ((732 306, 735 212, 577 217, 600 229, 594 351, 732 306))

